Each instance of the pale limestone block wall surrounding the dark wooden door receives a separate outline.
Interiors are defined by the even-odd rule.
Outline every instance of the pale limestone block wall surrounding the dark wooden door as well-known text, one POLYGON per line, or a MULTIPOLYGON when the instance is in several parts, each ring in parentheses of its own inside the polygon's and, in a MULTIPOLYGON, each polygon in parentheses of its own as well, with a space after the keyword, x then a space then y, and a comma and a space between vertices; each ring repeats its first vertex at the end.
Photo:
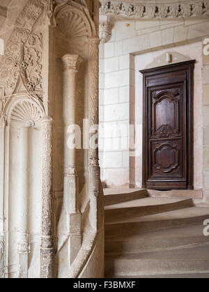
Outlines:
MULTIPOLYGON (((192 17, 188 19, 116 21, 109 42, 100 44, 100 161, 102 180, 106 181, 108 186, 141 187, 141 148, 139 146, 135 157, 130 157, 130 151, 132 156, 132 149, 130 149, 130 144, 133 144, 132 133, 118 131, 114 134, 112 129, 114 125, 138 122, 139 127, 136 130, 139 135, 135 136, 134 143, 141 145, 140 139, 138 143, 136 141, 141 137, 140 76, 137 72, 143 66, 152 63, 157 56, 160 57, 173 51, 176 54, 179 52, 181 55, 176 56, 177 59, 173 59, 174 62, 194 57, 198 60, 195 69, 195 94, 198 99, 196 110, 198 108, 197 113, 200 115, 199 120, 196 115, 195 131, 198 132, 198 138, 195 134, 194 167, 196 173, 194 181, 195 188, 203 187, 203 107, 199 96, 202 96, 203 92, 201 63, 206 60, 202 61, 203 50, 200 43, 207 38, 208 27, 208 19, 192 17), (197 44, 198 42, 199 44, 197 44), (198 47, 196 54, 194 54, 195 46, 198 47), (155 51, 155 54, 152 54, 152 51, 155 51), (146 58, 146 64, 144 58, 146 58), (201 131, 198 130, 198 127, 201 128, 201 131), (125 147, 114 149, 111 145, 109 146, 113 143, 114 139, 110 139, 113 137, 121 140, 121 144, 125 147), (105 147, 105 145, 107 146, 105 147)), ((161 61, 157 60, 157 62, 161 61)), ((158 64, 160 65, 160 63, 158 64)), ((166 62, 163 63, 163 65, 166 64, 166 62)), ((153 67, 156 65, 157 63, 153 63, 153 67)), ((207 79, 207 69, 203 70, 207 79)), ((204 90, 206 92, 206 87, 204 90)), ((207 174, 205 173, 205 175, 207 174)))

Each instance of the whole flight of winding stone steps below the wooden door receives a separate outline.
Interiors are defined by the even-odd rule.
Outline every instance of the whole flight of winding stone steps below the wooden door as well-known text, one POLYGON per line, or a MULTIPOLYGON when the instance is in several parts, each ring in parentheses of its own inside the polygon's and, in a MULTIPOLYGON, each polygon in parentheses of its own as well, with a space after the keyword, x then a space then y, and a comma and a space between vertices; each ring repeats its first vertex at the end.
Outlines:
POLYGON ((209 208, 191 197, 104 189, 105 277, 209 278, 209 208))

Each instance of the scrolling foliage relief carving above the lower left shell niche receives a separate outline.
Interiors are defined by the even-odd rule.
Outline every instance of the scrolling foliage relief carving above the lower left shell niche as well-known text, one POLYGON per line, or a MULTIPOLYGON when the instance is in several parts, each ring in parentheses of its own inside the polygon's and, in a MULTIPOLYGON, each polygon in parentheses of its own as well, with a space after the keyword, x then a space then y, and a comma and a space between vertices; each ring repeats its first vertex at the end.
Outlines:
POLYGON ((43 8, 42 0, 29 0, 17 18, 0 66, 0 98, 13 94, 19 77, 26 90, 42 88, 42 37, 30 34, 43 8))

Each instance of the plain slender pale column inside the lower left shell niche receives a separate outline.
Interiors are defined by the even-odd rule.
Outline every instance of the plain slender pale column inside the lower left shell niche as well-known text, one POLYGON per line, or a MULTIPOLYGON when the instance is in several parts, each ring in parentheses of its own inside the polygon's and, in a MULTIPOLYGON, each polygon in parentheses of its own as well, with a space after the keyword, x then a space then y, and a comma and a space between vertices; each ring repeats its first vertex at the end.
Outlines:
POLYGON ((19 254, 19 278, 28 277, 28 254, 29 254, 29 234, 28 234, 28 131, 27 127, 22 127, 21 140, 21 164, 20 164, 20 240, 18 243, 19 254))

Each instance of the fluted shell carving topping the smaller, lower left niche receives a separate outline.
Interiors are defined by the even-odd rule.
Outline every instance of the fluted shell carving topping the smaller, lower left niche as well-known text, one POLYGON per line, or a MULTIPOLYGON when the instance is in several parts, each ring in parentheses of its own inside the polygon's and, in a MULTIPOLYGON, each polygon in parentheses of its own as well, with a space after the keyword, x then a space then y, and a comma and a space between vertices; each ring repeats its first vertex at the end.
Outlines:
POLYGON ((35 127, 42 119, 40 108, 33 102, 23 101, 13 108, 10 116, 10 122, 20 122, 27 127, 35 127))

